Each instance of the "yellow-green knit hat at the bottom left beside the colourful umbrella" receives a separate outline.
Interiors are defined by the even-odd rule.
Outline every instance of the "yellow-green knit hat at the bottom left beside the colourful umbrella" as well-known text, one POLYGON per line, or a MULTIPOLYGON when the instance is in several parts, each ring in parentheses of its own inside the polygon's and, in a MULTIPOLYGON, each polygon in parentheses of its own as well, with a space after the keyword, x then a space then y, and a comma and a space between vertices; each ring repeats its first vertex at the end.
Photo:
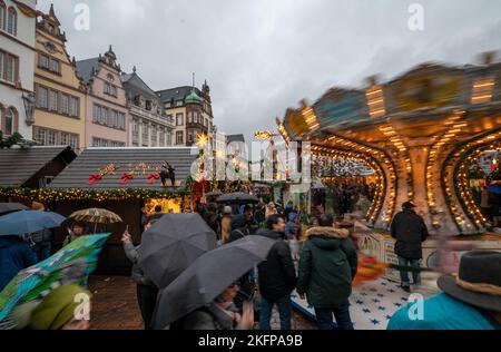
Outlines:
POLYGON ((75 310, 82 303, 76 300, 77 294, 90 292, 78 285, 65 285, 49 293, 45 300, 33 310, 30 320, 32 330, 59 330, 73 316, 75 310))

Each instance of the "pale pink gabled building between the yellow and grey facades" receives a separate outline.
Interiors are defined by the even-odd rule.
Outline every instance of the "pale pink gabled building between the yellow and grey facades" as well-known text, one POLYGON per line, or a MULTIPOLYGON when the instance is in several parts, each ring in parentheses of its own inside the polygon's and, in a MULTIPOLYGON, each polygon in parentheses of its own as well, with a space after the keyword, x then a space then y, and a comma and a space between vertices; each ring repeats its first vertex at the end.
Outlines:
POLYGON ((111 46, 105 55, 77 61, 77 72, 87 86, 86 146, 127 146, 127 98, 111 46))

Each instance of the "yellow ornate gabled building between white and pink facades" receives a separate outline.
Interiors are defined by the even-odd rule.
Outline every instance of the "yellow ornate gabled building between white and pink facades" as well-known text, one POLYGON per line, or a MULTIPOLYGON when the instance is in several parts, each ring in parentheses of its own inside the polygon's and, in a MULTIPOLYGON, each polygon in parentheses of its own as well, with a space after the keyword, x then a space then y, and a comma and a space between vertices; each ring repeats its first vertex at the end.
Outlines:
POLYGON ((66 41, 51 7, 37 22, 33 139, 81 150, 86 146, 86 87, 77 76, 75 59, 66 51, 66 41))

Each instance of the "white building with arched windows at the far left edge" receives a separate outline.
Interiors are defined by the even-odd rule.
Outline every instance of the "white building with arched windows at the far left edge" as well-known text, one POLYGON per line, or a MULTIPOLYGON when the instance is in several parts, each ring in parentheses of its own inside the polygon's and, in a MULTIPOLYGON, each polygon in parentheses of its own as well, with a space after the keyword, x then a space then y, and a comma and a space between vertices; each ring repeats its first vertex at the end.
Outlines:
POLYGON ((0 130, 32 139, 36 0, 0 0, 0 130))

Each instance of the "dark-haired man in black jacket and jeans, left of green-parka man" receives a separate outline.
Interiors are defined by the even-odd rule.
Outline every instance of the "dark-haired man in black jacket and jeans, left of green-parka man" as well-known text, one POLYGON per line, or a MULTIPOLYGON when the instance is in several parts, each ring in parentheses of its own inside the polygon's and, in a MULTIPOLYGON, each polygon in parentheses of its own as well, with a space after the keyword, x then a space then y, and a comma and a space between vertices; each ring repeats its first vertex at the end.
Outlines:
POLYGON ((261 301, 259 327, 269 330, 274 304, 278 306, 281 330, 291 330, 291 293, 296 286, 296 271, 291 250, 285 243, 284 218, 277 214, 266 219, 267 228, 256 235, 275 239, 265 262, 257 265, 261 301))

